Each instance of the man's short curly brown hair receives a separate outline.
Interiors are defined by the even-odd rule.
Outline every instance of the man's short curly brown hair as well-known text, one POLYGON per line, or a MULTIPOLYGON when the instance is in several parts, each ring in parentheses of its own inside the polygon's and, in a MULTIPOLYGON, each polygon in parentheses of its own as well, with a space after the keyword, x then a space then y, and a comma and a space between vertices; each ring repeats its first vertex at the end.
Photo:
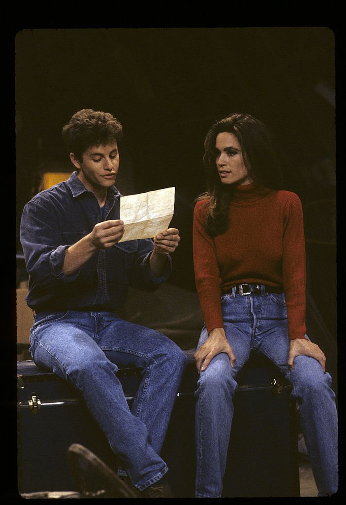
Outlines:
POLYGON ((83 161, 83 153, 88 147, 118 143, 122 138, 122 126, 108 112, 82 109, 62 128, 62 138, 68 153, 74 153, 79 161, 83 161))

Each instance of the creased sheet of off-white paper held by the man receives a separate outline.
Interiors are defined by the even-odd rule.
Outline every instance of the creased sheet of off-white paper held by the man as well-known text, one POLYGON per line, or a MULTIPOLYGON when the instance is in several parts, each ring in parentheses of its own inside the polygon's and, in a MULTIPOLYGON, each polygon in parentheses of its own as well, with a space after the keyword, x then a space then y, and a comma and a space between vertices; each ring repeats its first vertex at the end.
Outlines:
POLYGON ((152 238, 166 230, 174 213, 175 188, 120 197, 120 219, 124 234, 119 242, 152 238))

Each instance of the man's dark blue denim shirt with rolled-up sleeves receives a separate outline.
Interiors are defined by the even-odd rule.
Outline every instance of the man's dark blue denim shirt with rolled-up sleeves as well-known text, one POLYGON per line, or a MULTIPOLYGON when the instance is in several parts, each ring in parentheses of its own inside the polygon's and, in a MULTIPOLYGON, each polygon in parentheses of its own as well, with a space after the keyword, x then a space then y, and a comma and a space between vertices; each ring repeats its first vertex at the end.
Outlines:
POLYGON ((100 249, 74 275, 62 272, 65 250, 106 219, 120 219, 120 193, 108 189, 102 217, 97 198, 74 172, 64 182, 41 191, 24 207, 20 238, 29 292, 27 304, 36 312, 64 310, 116 311, 128 286, 154 291, 172 271, 171 258, 161 277, 149 266, 151 239, 120 242, 100 249))

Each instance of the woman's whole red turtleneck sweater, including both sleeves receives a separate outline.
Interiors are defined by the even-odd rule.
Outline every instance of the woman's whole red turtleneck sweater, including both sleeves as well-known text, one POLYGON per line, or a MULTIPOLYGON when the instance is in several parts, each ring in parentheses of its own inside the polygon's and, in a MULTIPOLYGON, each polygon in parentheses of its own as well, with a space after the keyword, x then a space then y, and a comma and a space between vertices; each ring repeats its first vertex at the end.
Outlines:
POLYGON ((228 230, 210 237, 204 227, 209 200, 197 202, 193 261, 197 293, 208 332, 223 328, 221 294, 247 282, 282 286, 289 338, 304 338, 305 239, 299 197, 256 183, 237 186, 228 230))

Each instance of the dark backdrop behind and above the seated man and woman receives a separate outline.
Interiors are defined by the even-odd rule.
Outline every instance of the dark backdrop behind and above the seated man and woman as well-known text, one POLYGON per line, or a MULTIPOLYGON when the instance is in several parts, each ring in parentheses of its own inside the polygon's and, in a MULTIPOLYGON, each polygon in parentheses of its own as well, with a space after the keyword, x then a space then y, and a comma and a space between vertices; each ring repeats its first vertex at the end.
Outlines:
POLYGON ((43 171, 70 171, 61 128, 80 109, 124 128, 124 194, 176 187, 181 243, 171 281, 193 291, 192 209, 203 140, 246 112, 272 131, 286 188, 302 199, 308 329, 336 370, 335 61, 328 27, 21 30, 15 37, 17 254, 23 206, 43 171))

